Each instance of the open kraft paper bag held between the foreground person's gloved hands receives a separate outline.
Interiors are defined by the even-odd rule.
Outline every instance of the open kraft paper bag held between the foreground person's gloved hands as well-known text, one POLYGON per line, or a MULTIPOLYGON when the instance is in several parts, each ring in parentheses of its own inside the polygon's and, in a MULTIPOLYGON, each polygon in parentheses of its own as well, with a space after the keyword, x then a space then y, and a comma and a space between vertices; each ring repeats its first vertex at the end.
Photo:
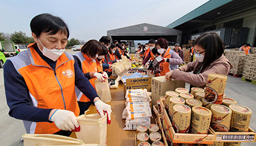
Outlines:
POLYGON ((106 114, 100 117, 100 114, 80 115, 76 117, 81 126, 80 132, 76 132, 77 139, 85 143, 96 143, 106 146, 106 114))

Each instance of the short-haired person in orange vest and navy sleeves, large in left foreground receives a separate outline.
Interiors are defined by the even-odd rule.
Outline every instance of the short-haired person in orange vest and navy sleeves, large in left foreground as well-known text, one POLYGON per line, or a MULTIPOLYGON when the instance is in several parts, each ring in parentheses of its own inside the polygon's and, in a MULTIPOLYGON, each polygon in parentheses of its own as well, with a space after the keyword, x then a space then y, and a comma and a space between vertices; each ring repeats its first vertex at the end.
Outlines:
MULTIPOLYGON (((101 116, 111 106, 100 101, 71 54, 65 52, 69 30, 61 18, 35 16, 30 27, 35 43, 4 65, 5 96, 10 116, 24 120, 27 134, 62 134, 79 131, 75 86, 85 94, 101 116), (18 90, 13 90, 13 89, 18 90)), ((110 123, 110 117, 108 118, 110 123)))

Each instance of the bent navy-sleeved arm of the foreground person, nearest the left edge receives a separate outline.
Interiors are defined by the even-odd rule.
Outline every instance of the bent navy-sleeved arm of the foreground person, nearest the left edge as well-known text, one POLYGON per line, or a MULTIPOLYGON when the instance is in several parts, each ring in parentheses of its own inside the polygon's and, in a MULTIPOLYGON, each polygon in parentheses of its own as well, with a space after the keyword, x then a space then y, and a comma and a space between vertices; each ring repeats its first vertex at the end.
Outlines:
POLYGON ((48 115, 52 109, 33 107, 25 79, 18 74, 10 60, 3 66, 3 77, 11 117, 32 122, 50 122, 48 115))

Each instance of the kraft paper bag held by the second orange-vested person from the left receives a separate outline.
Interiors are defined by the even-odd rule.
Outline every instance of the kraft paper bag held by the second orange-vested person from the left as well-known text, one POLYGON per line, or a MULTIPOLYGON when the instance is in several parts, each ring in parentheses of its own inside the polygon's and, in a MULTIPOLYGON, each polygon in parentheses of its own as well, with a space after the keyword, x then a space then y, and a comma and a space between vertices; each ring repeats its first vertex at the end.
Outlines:
POLYGON ((101 101, 104 103, 109 103, 112 98, 111 98, 111 93, 109 89, 109 81, 108 79, 105 79, 102 83, 98 80, 94 81, 95 83, 95 88, 98 93, 98 96, 100 96, 101 101))

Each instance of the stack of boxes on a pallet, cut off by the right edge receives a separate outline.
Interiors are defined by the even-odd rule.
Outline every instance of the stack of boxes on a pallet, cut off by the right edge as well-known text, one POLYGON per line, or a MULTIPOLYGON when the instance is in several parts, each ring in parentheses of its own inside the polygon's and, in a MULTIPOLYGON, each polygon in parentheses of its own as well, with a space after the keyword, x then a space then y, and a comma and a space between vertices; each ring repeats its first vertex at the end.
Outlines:
POLYGON ((256 54, 246 55, 242 77, 256 81, 256 54))

